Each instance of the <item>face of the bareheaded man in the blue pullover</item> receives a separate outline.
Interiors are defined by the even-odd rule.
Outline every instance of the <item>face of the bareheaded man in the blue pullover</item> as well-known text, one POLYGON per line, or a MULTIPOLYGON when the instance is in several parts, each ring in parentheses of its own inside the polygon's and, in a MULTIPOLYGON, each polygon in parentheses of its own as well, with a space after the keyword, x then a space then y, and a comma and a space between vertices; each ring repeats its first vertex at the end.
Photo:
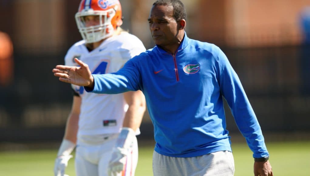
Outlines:
MULTIPOLYGON (((149 28, 156 45, 164 49, 171 45, 177 45, 178 23, 173 17, 173 7, 156 5, 153 6, 148 17, 149 28)), ((183 37, 183 36, 182 36, 183 37)))

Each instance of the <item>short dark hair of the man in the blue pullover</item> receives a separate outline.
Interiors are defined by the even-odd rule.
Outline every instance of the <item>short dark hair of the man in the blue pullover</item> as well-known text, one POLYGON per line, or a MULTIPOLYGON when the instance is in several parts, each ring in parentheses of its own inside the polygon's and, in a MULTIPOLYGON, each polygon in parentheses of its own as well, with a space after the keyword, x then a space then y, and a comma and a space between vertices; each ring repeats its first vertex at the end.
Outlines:
POLYGON ((153 6, 164 5, 173 7, 173 17, 176 21, 184 19, 186 21, 186 11, 184 4, 180 0, 157 0, 153 6))

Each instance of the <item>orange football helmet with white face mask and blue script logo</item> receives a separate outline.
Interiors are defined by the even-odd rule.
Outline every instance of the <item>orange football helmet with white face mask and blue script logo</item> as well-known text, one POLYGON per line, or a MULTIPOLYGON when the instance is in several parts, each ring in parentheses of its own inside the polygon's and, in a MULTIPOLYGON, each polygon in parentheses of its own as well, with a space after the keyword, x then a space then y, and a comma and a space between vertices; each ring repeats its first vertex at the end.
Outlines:
POLYGON ((122 25, 122 7, 118 0, 82 0, 75 20, 86 43, 98 42, 122 25), (84 18, 89 15, 98 15, 100 24, 87 27, 84 18))

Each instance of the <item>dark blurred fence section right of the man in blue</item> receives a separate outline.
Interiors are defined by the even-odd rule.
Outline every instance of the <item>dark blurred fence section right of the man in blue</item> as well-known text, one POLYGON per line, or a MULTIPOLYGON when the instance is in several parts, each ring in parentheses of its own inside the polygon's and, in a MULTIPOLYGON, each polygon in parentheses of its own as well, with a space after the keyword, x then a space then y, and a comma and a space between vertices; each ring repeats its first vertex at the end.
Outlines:
MULTIPOLYGON (((309 45, 224 51, 263 131, 310 131, 309 45)), ((237 131, 229 110, 226 114, 228 129, 237 131)))

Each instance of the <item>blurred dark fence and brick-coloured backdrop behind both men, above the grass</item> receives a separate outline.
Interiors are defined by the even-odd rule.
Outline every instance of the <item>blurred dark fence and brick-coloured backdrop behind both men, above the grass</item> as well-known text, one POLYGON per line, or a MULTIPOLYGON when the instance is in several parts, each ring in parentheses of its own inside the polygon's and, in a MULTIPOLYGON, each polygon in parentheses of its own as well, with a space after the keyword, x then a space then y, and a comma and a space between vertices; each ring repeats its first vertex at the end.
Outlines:
MULTIPOLYGON (((81 40, 74 19, 79 2, 0 0, 0 151, 53 142, 58 148, 72 94, 51 70, 64 64, 69 47, 81 40)), ((122 28, 153 48, 147 18, 154 0, 120 2, 122 28)), ((309 141, 310 1, 182 2, 187 35, 218 45, 228 56, 266 141, 309 141)), ((226 110, 228 130, 237 141, 240 133, 226 110)), ((148 113, 141 132, 139 141, 153 140, 148 113)))

